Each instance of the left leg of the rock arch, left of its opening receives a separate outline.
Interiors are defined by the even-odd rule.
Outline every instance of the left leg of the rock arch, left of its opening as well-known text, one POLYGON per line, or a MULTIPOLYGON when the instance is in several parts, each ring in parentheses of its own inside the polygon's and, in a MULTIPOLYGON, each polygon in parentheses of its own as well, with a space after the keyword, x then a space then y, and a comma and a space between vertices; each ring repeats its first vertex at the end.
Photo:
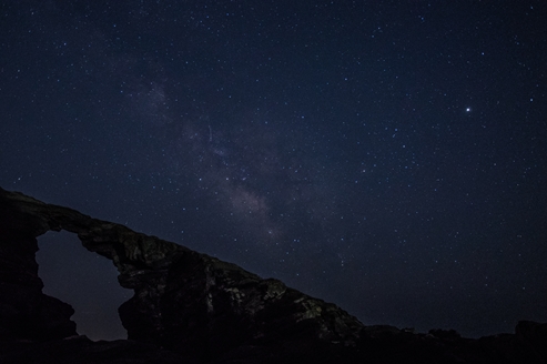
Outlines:
MULTIPOLYGON (((75 335, 69 304, 42 294, 36 236, 49 230, 0 191, 0 340, 45 340, 75 335)), ((13 194, 9 194, 13 195, 13 194)), ((22 198, 22 195, 21 195, 22 198)))

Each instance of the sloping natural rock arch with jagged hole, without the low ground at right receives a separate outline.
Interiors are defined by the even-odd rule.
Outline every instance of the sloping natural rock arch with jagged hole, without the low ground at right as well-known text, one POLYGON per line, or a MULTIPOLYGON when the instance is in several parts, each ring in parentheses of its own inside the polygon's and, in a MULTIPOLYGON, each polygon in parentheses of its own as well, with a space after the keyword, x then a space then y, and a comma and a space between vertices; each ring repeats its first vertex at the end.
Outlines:
MULTIPOLYGON (((65 230, 111 260, 119 283, 134 291, 120 317, 128 337, 200 360, 235 347, 278 347, 283 342, 326 347, 355 345, 361 322, 334 304, 277 280, 75 210, 0 189, 0 335, 51 340, 75 335, 70 305, 42 293, 37 236, 65 230), (7 291, 6 291, 7 290, 7 291), (262 345, 262 346, 261 346, 262 345)), ((270 348, 267 348, 270 347, 270 348)), ((277 348, 276 348, 277 350, 277 348)))

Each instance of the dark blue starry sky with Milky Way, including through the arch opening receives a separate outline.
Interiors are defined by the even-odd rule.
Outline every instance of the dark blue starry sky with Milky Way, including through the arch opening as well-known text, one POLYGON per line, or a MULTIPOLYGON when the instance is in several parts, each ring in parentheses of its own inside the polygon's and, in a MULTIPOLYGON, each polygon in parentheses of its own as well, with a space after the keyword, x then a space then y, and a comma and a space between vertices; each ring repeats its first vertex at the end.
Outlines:
MULTIPOLYGON (((546 19, 545 1, 0 1, 0 185, 365 325, 547 322, 546 19)), ((112 263, 39 243, 44 292, 123 336, 98 324, 131 296, 112 263)))

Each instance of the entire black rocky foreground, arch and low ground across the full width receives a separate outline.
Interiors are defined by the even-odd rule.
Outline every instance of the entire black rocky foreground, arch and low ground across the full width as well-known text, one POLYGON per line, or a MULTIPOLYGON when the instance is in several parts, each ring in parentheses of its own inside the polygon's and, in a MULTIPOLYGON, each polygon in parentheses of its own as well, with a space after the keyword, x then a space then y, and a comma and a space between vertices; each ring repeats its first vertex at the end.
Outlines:
POLYGON ((462 338, 364 326, 334 304, 123 225, 0 189, 1 363, 545 363, 547 325, 462 338), (67 303, 42 293, 37 236, 65 230, 110 259, 134 295, 128 341, 77 336, 67 303))

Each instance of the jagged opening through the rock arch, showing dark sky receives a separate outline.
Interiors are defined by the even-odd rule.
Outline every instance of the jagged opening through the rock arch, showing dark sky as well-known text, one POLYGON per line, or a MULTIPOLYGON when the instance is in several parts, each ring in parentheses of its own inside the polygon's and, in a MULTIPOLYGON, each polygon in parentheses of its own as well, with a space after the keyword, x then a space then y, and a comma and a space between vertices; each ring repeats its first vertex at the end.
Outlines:
POLYGON ((69 303, 77 332, 93 341, 128 338, 118 307, 132 295, 118 283, 114 264, 82 246, 77 234, 50 231, 38 237, 43 293, 69 303))

